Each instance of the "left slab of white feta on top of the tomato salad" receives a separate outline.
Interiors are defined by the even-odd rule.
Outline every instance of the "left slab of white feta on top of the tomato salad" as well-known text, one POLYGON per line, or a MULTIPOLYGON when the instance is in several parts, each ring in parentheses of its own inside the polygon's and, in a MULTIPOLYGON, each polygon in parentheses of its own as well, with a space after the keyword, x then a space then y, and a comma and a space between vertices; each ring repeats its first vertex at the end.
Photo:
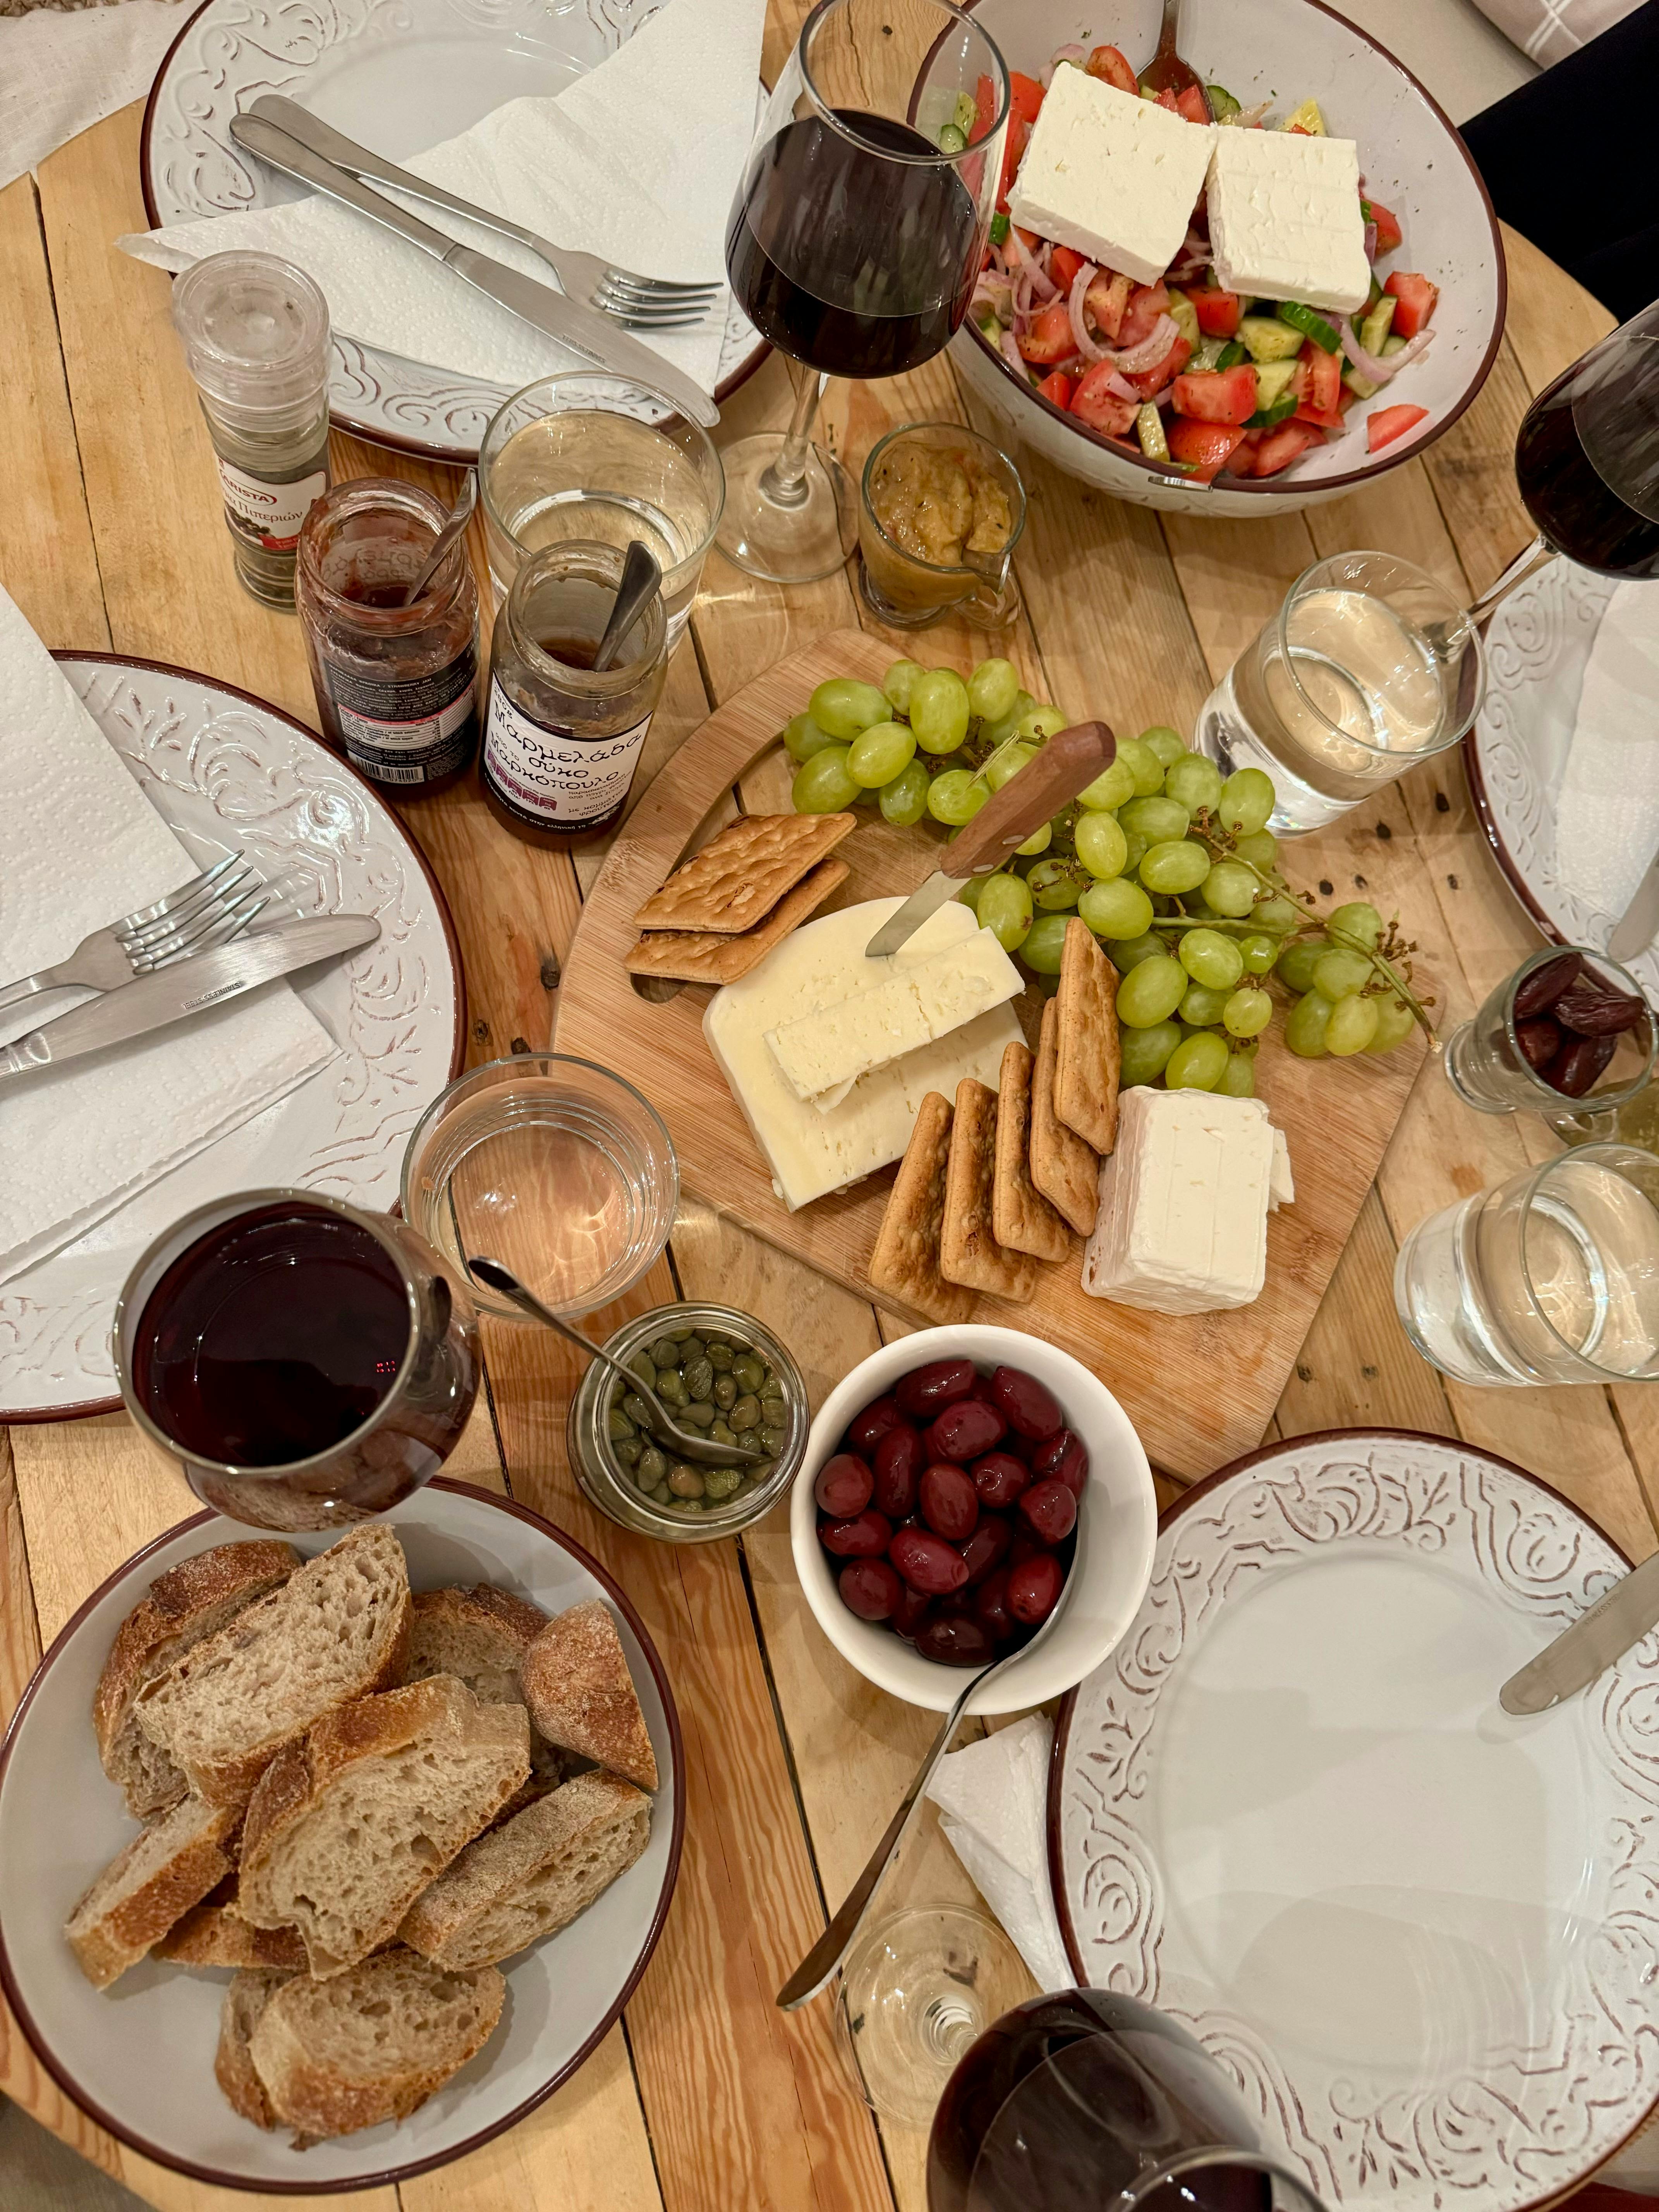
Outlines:
POLYGON ((1009 215, 1022 230, 1157 283, 1181 252, 1217 137, 1243 133, 1190 124, 1082 69, 1057 69, 1009 215))

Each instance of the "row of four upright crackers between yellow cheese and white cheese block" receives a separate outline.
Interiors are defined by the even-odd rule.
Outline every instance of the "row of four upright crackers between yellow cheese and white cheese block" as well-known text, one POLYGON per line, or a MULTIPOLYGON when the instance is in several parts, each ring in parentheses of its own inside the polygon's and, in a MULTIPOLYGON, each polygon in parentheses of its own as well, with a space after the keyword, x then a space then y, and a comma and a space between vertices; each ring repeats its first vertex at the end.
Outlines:
POLYGON ((1117 969, 1073 916, 1035 1060, 1002 1053, 1000 1084, 929 1091, 883 1214, 869 1283, 929 1321, 967 1321, 980 1292, 1029 1305, 1037 1265, 1073 1256, 1117 1144, 1117 969))

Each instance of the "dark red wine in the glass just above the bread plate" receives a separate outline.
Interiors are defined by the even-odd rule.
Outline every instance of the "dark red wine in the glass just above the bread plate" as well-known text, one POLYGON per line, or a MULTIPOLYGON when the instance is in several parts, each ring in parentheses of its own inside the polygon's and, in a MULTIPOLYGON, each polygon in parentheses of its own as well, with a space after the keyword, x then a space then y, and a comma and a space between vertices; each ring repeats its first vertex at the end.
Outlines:
POLYGON ((201 1460, 288 1467, 374 1413, 409 1347, 409 1292, 385 1248, 312 1206, 208 1230, 150 1292, 133 1383, 201 1460))

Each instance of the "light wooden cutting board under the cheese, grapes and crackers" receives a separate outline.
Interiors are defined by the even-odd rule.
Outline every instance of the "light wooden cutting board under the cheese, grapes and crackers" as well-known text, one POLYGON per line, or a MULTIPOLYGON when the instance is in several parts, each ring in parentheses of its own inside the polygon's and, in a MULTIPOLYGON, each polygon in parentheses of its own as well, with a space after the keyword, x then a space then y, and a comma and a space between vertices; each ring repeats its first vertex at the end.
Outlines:
MULTIPOLYGON (((792 765, 779 732, 805 708, 812 688, 836 675, 878 684, 891 659, 889 646, 860 630, 827 633, 776 661, 679 748, 588 894, 564 967, 555 1033, 557 1051, 615 1068, 657 1106, 686 1190, 867 1298, 878 1296, 867 1265, 894 1170, 790 1214, 703 1042, 712 991, 635 984, 622 956, 639 936, 635 909, 688 852, 739 807, 787 810, 792 765)), ((852 874, 821 911, 916 889, 940 843, 933 823, 894 830, 860 814, 858 830, 836 847, 852 874)), ((1292 880, 1318 883, 1321 843, 1298 838, 1290 847, 1292 880)), ((1389 867, 1400 880, 1416 872, 1416 854, 1391 860, 1389 852, 1378 847, 1367 878, 1367 896, 1385 914, 1398 905, 1389 867)), ((1040 1004, 1031 991, 1020 1006, 1033 1035, 1040 1004)), ((1267 1219, 1267 1283, 1254 1305, 1172 1318, 1088 1298, 1079 1245, 1071 1263, 1040 1270, 1031 1305, 980 1298, 975 1314, 1029 1329, 1084 1360, 1117 1394, 1148 1455, 1177 1475, 1203 1475, 1261 1442, 1422 1060, 1422 1046, 1407 1040, 1387 1057, 1307 1062, 1283 1048, 1279 1031, 1274 1020, 1256 1060, 1256 1091, 1290 1144, 1296 1203, 1267 1219)), ((790 1316, 768 1318, 787 1343, 790 1316)))

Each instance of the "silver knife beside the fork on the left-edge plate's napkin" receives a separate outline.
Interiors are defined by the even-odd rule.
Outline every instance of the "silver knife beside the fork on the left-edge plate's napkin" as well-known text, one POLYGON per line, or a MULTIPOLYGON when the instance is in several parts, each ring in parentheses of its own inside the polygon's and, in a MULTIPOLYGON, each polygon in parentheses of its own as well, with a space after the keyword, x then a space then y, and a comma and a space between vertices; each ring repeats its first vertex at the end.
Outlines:
POLYGON ((104 991, 102 998, 88 998, 82 1006, 60 1013, 55 1022, 31 1029, 15 1044, 0 1046, 0 1082, 7 1075, 53 1068, 60 1060, 77 1060, 82 1053, 102 1053, 111 1044, 144 1037, 153 1029, 206 1013, 208 1006, 223 1006, 226 1000, 292 969, 354 953, 363 945, 374 945, 378 936, 380 925, 372 914, 319 914, 307 922, 285 922, 281 929, 261 929, 257 938, 219 945, 210 953, 197 953, 195 960, 179 960, 170 969, 104 991))

